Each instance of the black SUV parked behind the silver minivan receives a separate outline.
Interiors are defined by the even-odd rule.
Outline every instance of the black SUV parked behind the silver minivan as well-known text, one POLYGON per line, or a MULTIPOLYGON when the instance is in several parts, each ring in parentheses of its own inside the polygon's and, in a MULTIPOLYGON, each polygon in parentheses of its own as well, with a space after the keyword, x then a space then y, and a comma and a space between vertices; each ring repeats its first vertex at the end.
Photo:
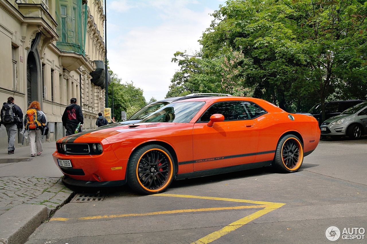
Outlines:
MULTIPOLYGON (((331 117, 339 115, 344 110, 355 106, 356 104, 362 103, 364 100, 346 100, 346 101, 330 101, 325 103, 325 119, 329 119, 331 117)), ((321 125, 321 103, 317 103, 315 106, 313 106, 310 111, 308 111, 309 114, 312 114, 313 117, 319 121, 319 125, 321 125)))

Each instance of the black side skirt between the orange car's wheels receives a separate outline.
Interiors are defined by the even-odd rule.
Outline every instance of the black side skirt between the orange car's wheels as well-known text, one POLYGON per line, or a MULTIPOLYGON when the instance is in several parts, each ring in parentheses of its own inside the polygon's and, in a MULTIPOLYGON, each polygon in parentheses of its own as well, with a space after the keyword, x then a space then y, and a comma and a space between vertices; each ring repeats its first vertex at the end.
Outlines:
POLYGON ((196 171, 196 172, 183 173, 183 174, 176 175, 176 180, 203 177, 203 176, 215 175, 215 174, 224 174, 224 173, 230 173, 230 172, 247 170, 247 169, 256 169, 256 168, 261 168, 265 166, 270 166, 271 163, 272 163, 272 160, 269 160, 269 161, 264 161, 264 162, 246 163, 246 164, 229 166, 229 167, 218 168, 218 169, 201 170, 201 171, 196 171))

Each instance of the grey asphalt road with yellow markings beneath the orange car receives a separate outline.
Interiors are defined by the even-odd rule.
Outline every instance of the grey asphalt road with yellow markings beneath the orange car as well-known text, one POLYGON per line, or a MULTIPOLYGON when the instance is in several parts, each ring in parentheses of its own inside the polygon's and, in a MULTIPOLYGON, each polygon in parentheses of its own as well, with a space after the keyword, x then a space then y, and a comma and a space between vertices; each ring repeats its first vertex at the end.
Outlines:
POLYGON ((72 200, 26 243, 330 243, 331 225, 336 243, 367 243, 366 149, 366 136, 324 140, 297 173, 181 180, 151 196, 108 189, 72 200))

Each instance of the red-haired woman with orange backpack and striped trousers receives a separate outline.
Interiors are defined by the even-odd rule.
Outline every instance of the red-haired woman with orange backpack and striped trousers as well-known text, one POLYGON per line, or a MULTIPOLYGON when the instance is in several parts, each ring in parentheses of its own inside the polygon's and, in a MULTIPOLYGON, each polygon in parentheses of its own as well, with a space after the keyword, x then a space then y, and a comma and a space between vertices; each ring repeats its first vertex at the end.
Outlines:
POLYGON ((40 136, 42 133, 42 126, 47 124, 47 117, 41 111, 40 103, 38 101, 33 101, 26 112, 24 125, 25 130, 29 131, 30 140, 30 156, 34 157, 41 155, 43 151, 40 136), (37 151, 36 151, 37 150, 37 151))

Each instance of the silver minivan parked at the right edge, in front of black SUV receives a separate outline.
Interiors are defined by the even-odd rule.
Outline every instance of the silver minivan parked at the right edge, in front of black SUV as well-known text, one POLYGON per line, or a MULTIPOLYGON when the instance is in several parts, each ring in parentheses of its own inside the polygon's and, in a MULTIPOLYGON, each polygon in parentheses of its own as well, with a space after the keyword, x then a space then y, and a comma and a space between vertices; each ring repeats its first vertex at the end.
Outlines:
POLYGON ((367 132, 367 102, 348 108, 321 124, 321 135, 338 138, 348 136, 359 139, 367 132))

